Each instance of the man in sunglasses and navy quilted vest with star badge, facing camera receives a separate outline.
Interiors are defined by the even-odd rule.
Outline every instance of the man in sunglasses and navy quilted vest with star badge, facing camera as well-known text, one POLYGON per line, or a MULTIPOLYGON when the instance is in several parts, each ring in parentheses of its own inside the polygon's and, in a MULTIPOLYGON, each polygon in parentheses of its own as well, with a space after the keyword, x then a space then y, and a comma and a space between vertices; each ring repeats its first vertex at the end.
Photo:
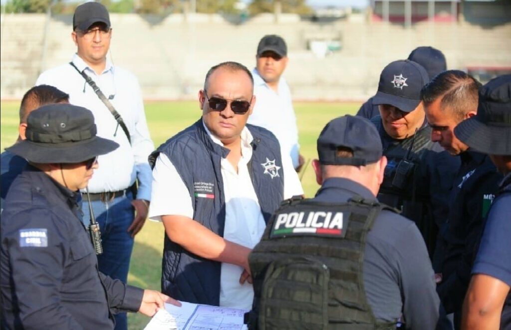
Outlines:
POLYGON ((161 291, 176 299, 250 309, 248 253, 282 200, 303 194, 275 136, 246 125, 254 103, 245 66, 213 66, 202 118, 150 156, 149 217, 166 231, 161 291))

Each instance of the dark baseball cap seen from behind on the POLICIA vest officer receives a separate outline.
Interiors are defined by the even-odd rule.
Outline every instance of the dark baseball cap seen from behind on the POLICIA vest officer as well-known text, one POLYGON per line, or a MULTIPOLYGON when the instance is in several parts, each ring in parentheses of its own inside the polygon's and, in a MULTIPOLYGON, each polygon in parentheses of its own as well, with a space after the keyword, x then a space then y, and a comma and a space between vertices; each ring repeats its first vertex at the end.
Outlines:
POLYGON ((383 154, 380 134, 375 125, 360 116, 345 115, 330 121, 317 140, 322 165, 365 166, 380 160, 383 154), (353 151, 353 157, 338 157, 340 147, 353 151))

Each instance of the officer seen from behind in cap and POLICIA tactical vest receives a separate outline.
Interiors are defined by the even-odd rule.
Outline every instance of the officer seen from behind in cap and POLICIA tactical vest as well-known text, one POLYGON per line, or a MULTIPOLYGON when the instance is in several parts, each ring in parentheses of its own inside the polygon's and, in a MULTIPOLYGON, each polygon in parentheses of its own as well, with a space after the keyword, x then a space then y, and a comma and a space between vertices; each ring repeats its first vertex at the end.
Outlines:
POLYGON ((387 163, 377 130, 339 117, 317 149, 316 197, 285 201, 250 253, 249 328, 434 329, 440 303, 421 233, 375 197, 387 163))

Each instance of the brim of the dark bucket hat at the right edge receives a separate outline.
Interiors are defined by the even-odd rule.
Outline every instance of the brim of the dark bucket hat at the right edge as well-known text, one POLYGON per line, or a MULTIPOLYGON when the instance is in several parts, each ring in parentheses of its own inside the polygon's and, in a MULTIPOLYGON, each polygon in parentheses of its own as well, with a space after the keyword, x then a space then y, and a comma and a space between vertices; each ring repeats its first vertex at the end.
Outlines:
POLYGON ((470 148, 491 155, 511 155, 511 128, 489 126, 472 117, 454 128, 454 135, 470 148))

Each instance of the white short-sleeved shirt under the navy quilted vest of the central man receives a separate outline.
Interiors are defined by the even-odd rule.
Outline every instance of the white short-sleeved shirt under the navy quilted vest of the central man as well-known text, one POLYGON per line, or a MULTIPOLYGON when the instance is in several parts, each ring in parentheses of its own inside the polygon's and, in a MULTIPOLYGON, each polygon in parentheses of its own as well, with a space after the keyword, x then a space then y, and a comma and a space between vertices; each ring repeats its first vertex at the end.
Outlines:
MULTIPOLYGON (((216 144, 222 142, 206 129, 216 144)), ((266 224, 259 200, 255 194, 247 163, 252 158, 252 134, 245 127, 241 132, 241 154, 238 173, 227 160, 221 160, 221 173, 225 196, 225 229, 223 238, 248 248, 253 248, 264 233, 266 224)), ((302 195, 303 189, 289 156, 282 156, 284 171, 284 198, 302 195)), ((161 216, 178 215, 193 218, 190 193, 170 159, 160 153, 153 170, 153 192, 149 218, 161 221, 161 216)), ((220 275, 220 306, 250 310, 252 307, 252 285, 239 279, 243 268, 222 263, 220 275)))

